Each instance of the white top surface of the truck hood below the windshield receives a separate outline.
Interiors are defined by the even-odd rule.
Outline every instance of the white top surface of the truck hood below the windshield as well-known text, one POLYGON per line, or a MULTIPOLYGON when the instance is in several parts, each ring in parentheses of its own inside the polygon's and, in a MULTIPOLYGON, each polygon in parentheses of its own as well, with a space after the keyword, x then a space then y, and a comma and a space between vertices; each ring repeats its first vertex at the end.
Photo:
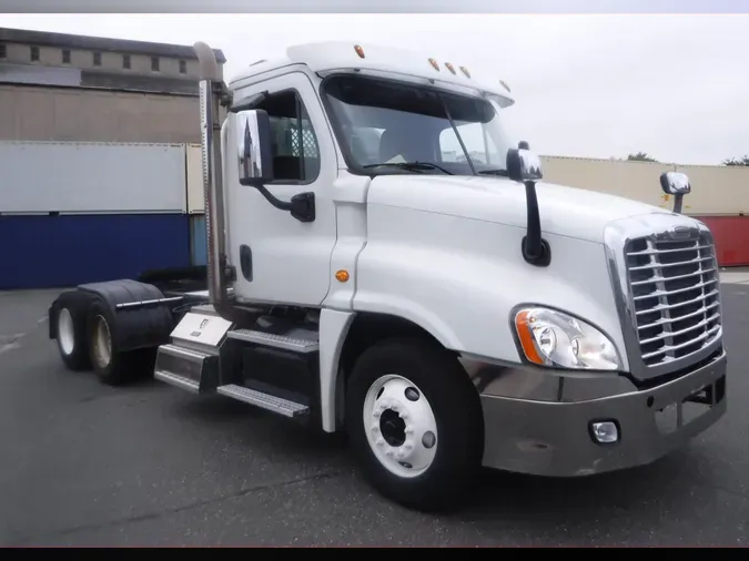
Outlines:
MULTIPOLYGON (((654 186, 657 188, 657 185, 654 186)), ((603 243, 611 221, 670 211, 615 195, 540 182, 536 185, 544 232, 603 243)), ((397 206, 526 227, 525 187, 506 177, 378 175, 367 204, 397 206)))

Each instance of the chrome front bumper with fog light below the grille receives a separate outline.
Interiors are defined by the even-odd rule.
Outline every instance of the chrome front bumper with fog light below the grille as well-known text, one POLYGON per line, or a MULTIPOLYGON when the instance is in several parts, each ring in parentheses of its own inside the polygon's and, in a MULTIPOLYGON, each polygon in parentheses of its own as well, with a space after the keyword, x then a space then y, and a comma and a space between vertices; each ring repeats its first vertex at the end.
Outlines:
POLYGON ((574 477, 650 463, 681 447, 726 412, 726 354, 651 389, 575 402, 482 394, 484 465, 574 477), (700 395, 701 404, 690 396, 700 395), (595 441, 594 421, 613 420, 615 443, 595 441))

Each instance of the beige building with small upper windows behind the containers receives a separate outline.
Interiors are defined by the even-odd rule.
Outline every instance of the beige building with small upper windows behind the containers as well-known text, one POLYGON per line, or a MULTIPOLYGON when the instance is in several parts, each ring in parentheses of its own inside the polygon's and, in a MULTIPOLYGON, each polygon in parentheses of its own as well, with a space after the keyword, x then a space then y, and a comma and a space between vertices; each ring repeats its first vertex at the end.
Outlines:
POLYGON ((200 142, 198 59, 190 45, 0 28, 0 140, 200 142))

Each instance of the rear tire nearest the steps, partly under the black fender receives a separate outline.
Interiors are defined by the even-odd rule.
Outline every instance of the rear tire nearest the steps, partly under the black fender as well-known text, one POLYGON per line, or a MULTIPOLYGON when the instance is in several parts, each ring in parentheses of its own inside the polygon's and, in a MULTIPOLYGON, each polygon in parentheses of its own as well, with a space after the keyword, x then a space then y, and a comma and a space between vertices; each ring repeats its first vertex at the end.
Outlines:
POLYGON ((101 300, 95 300, 89 310, 89 359, 99 379, 108 386, 122 386, 141 378, 142 366, 139 353, 122 353, 117 348, 112 314, 101 300))

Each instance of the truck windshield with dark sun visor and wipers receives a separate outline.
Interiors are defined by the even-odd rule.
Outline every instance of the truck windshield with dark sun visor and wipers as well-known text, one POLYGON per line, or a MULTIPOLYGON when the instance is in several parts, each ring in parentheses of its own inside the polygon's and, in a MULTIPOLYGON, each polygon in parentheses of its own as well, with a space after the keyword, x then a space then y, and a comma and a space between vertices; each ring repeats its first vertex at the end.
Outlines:
POLYGON ((506 175, 512 143, 492 101, 348 75, 324 94, 354 172, 506 175))

